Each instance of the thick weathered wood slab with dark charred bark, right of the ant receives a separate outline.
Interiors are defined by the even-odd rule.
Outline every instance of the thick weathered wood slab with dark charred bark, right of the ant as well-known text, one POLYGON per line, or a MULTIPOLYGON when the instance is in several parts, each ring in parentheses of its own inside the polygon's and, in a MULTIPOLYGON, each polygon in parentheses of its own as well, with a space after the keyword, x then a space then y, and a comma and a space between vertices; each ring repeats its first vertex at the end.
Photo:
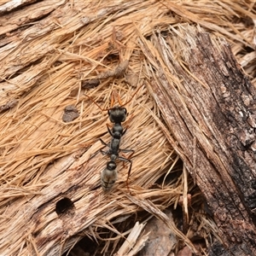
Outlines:
POLYGON ((158 72, 148 71, 148 85, 166 135, 206 196, 226 253, 255 255, 256 90, 229 44, 200 28, 180 27, 153 44, 146 54, 158 72))

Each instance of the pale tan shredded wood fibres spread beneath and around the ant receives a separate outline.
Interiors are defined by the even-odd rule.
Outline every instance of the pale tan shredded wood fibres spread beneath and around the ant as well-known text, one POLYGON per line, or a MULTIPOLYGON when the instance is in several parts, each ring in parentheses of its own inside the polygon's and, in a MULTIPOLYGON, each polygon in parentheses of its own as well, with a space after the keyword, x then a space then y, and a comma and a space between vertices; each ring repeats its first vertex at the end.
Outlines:
MULTIPOLYGON (((72 247, 81 234, 99 239, 97 230, 101 228, 112 230, 119 240, 130 231, 122 234, 113 220, 122 221, 142 210, 162 219, 193 248, 162 212, 177 206, 180 195, 190 192, 193 182, 184 183, 187 177, 182 174, 152 188, 179 166, 175 164, 177 154, 155 121, 161 119, 160 113, 144 83, 148 70, 154 70, 152 63, 160 59, 156 50, 160 46, 148 37, 168 32, 170 26, 178 31, 177 25, 183 22, 199 24, 212 35, 227 38, 253 79, 254 2, 44 1, 10 13, 4 13, 1 4, 0 253, 56 255, 72 247), (7 21, 10 17, 11 22, 7 21), (155 54, 154 59, 144 57, 150 56, 147 50, 155 54), (96 88, 82 88, 84 81, 115 70, 125 60, 129 61, 126 80, 124 76, 104 77, 96 88), (121 162, 118 181, 105 194, 96 186, 108 158, 96 152, 102 148, 100 137, 110 140, 108 114, 85 94, 108 108, 113 90, 127 102, 135 85, 142 87, 125 106, 130 115, 121 143, 121 148, 135 150, 129 183, 132 194, 125 188, 128 166, 121 162), (71 104, 78 108, 79 118, 63 123, 63 110, 71 104), (60 217, 55 204, 65 196, 74 208, 60 217)), ((201 217, 200 222, 204 222, 206 234, 212 230, 217 236, 210 219, 201 217)))

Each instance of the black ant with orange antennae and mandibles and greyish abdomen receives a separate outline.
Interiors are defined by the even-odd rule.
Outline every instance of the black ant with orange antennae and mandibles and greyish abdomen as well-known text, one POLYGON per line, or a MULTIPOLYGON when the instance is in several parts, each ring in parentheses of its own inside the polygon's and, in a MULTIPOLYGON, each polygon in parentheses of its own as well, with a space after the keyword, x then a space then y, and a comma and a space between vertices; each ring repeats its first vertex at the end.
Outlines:
MULTIPOLYGON (((134 93, 133 96, 135 96, 135 94, 137 93, 137 91, 140 89, 141 87, 139 87, 136 92, 134 93)), ((133 98, 133 96, 131 97, 131 100, 133 98)), ((90 98, 90 96, 88 96, 90 98)), ((128 175, 127 175, 127 179, 126 179, 126 187, 127 189, 130 191, 129 186, 128 186, 128 179, 130 177, 131 174, 131 166, 132 166, 132 161, 129 159, 126 159, 122 156, 119 156, 119 151, 123 151, 123 152, 132 152, 134 153, 134 150, 132 149, 120 149, 119 148, 119 144, 120 144, 120 140, 121 137, 125 134, 126 130, 124 130, 122 123, 125 122, 125 119, 128 115, 127 113, 127 109, 124 108, 124 106, 126 104, 128 104, 130 101, 125 102, 125 104, 122 104, 119 95, 118 95, 118 102, 119 102, 119 106, 113 106, 113 101, 114 101, 114 96, 113 93, 111 94, 111 104, 110 104, 110 108, 106 108, 106 109, 102 109, 93 99, 90 98, 90 100, 92 102, 94 102, 96 104, 96 106, 98 108, 100 108, 102 111, 107 111, 108 110, 108 118, 110 119, 110 122, 113 123, 113 128, 112 131, 109 129, 108 125, 108 132, 111 135, 112 139, 110 143, 104 143, 101 140, 102 144, 105 146, 108 146, 109 149, 108 151, 102 151, 102 154, 107 154, 110 156, 110 161, 108 161, 107 163, 107 167, 102 171, 101 174, 101 182, 102 182, 102 189, 104 191, 108 191, 113 187, 113 184, 115 183, 116 179, 117 179, 117 171, 116 171, 116 163, 115 160, 122 160, 122 161, 126 161, 130 163, 130 167, 129 167, 129 171, 128 171, 128 175)))

